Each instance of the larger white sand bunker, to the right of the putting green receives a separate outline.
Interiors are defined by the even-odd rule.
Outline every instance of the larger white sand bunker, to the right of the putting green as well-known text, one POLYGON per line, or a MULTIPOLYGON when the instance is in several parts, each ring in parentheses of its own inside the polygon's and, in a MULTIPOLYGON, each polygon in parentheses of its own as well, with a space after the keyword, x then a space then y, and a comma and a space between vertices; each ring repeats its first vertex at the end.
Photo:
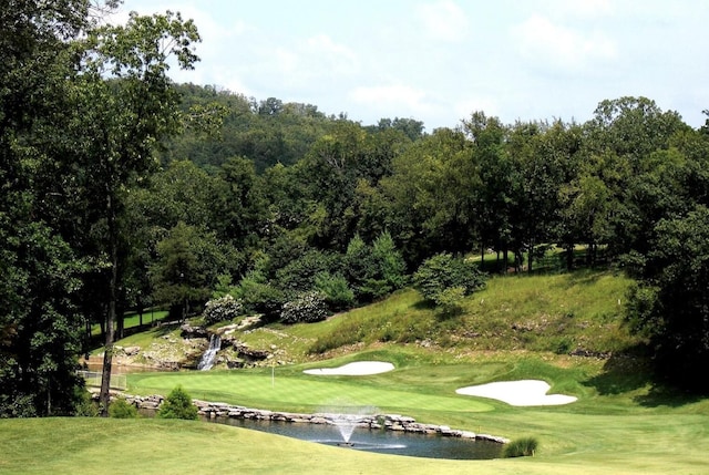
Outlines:
POLYGON ((510 405, 561 405, 576 401, 564 394, 546 394, 551 386, 544 381, 522 380, 481 384, 455 390, 458 394, 496 399, 510 405))

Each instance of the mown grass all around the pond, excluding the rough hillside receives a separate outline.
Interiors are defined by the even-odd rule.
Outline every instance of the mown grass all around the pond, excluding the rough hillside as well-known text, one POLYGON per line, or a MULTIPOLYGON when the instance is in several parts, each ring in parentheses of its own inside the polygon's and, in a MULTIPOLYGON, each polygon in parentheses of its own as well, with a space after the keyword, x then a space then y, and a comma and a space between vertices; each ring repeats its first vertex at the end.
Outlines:
POLYGON ((166 393, 183 385, 193 396, 261 409, 317 411, 329 404, 378 405, 421 422, 534 437, 534 457, 441 461, 327 447, 237 427, 156 420, 47 419, 0 421, 0 472, 82 474, 110 466, 126 474, 240 473, 485 473, 691 474, 706 473, 709 400, 669 397, 645 384, 602 394, 604 363, 535 353, 458 357, 387 347, 318 365, 354 360, 393 361, 372 376, 312 376, 315 364, 209 373, 138 373, 132 392, 166 393), (454 394, 493 380, 540 378, 552 392, 579 401, 563 406, 513 407, 454 394), (202 394, 201 394, 202 393, 202 394), (668 404, 669 403, 669 404, 668 404), (320 406, 320 404, 322 406, 320 406))

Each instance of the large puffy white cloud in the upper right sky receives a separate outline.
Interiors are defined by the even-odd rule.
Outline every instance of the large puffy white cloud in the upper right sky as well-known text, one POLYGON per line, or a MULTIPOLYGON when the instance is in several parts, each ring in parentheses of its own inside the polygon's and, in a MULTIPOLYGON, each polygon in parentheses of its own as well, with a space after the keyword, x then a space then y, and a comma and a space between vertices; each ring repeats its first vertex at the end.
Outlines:
POLYGON ((534 14, 513 30, 523 58, 540 66, 577 72, 597 61, 617 56, 615 42, 600 31, 584 31, 553 23, 534 14))

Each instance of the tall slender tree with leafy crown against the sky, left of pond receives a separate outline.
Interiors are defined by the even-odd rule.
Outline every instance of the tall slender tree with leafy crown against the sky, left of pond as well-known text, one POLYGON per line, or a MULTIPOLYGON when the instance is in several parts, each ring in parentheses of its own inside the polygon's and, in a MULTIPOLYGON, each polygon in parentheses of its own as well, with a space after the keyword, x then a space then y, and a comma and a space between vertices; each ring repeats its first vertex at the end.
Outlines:
POLYGON ((127 185, 153 171, 155 144, 182 126, 178 95, 167 79, 168 58, 183 69, 197 61, 199 41, 192 21, 179 13, 140 17, 125 24, 100 25, 82 41, 81 74, 72 84, 74 115, 68 121, 73 165, 81 178, 78 189, 93 216, 96 250, 107 269, 106 341, 101 402, 109 406, 114 324, 119 302, 123 213, 127 185))

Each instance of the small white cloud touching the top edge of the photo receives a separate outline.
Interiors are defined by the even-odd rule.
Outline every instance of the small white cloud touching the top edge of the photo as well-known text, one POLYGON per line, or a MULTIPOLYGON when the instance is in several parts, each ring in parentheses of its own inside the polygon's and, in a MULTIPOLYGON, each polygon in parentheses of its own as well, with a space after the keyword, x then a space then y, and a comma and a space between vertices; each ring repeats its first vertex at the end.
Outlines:
POLYGON ((467 17, 452 0, 420 4, 415 16, 423 24, 424 34, 432 40, 459 42, 467 35, 467 17))

